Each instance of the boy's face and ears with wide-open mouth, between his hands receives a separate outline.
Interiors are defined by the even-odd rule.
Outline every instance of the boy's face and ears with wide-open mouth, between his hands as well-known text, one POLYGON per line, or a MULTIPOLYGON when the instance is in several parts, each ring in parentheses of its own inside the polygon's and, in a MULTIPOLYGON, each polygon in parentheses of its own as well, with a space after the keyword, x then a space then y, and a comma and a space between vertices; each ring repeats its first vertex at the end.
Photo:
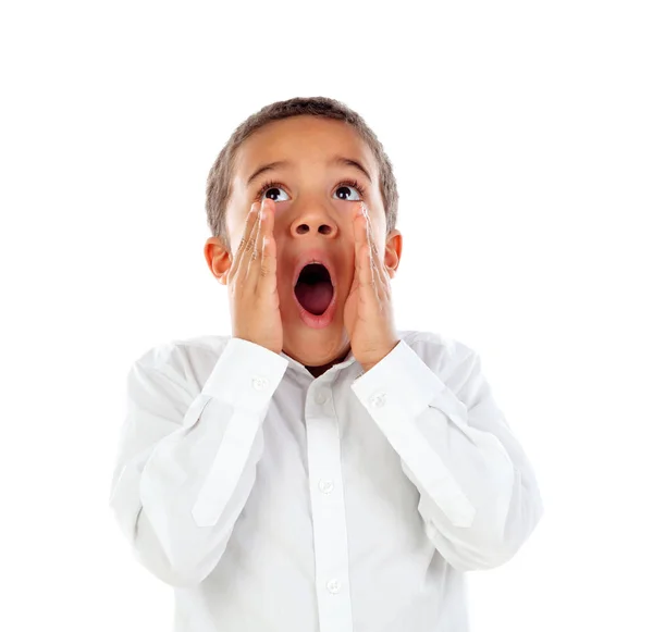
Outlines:
MULTIPOLYGON (((355 275, 353 213, 357 202, 366 203, 372 238, 379 252, 384 252, 391 276, 402 253, 399 232, 385 234, 377 161, 356 131, 341 121, 308 115, 274 121, 249 136, 237 151, 226 210, 234 250, 241 243, 251 203, 263 196, 275 202, 283 351, 307 367, 330 365, 344 359, 349 350, 344 305, 355 275), (356 166, 335 162, 336 157, 360 163, 369 178, 356 166), (281 161, 286 164, 266 170, 248 182, 261 166, 281 161), (358 182, 365 195, 345 181, 358 182), (269 182, 274 184, 260 190, 269 182), (330 280, 301 276, 295 287, 303 263, 313 258, 328 264, 330 280), (324 309, 326 303, 330 307, 324 309), (321 318, 311 317, 311 311, 321 318)), ((220 239, 211 237, 205 246, 205 257, 211 272, 226 283, 233 253, 220 239)))

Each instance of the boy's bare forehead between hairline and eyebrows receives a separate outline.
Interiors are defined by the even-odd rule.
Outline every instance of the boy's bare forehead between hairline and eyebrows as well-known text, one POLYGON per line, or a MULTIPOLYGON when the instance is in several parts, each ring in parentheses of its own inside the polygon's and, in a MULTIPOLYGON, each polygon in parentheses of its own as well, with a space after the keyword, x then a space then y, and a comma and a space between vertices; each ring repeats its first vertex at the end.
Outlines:
POLYGON ((361 162, 372 177, 377 164, 371 149, 347 123, 318 116, 292 116, 273 121, 257 129, 238 148, 234 160, 236 186, 247 186, 247 178, 261 164, 287 160, 295 169, 321 166, 334 156, 361 162))

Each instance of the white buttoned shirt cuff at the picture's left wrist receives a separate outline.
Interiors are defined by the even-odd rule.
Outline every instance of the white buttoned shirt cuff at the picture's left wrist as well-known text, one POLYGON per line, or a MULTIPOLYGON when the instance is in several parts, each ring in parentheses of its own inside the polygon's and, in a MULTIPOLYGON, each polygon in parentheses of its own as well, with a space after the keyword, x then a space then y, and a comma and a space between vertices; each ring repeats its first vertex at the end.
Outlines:
POLYGON ((288 365, 288 360, 242 338, 231 338, 202 394, 234 408, 260 412, 269 404, 288 365))

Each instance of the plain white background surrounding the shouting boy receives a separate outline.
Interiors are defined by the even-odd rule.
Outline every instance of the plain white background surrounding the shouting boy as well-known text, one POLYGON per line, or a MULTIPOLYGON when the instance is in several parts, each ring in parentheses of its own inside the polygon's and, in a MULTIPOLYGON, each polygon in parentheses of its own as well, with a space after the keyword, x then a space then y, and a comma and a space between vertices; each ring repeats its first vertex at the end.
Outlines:
POLYGON ((230 333, 208 171, 252 112, 328 96, 395 166, 399 327, 480 352, 539 476, 472 632, 652 630, 649 7, 3 4, 0 629, 170 628, 108 508, 126 372, 230 333))

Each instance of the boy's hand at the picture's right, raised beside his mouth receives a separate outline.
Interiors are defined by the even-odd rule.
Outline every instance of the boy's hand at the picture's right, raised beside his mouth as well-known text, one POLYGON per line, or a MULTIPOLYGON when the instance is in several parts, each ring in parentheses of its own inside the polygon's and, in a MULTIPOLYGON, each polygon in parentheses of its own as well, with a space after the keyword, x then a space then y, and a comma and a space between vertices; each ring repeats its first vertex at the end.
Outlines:
POLYGON ((365 206, 355 205, 354 282, 345 301, 344 324, 352 352, 369 371, 399 343, 394 325, 390 275, 379 257, 372 236, 372 225, 365 206))

